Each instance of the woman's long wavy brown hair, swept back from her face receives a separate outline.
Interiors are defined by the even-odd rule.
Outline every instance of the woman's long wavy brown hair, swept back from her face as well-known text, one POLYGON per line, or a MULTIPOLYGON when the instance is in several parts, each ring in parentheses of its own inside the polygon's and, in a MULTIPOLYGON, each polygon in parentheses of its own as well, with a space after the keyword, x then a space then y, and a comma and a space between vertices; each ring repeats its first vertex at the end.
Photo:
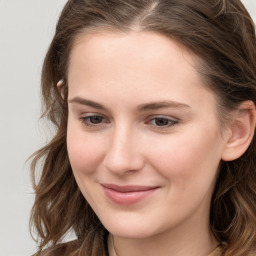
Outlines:
MULTIPOLYGON (((106 251, 107 231, 75 182, 66 148, 70 51, 79 34, 98 28, 157 32, 196 54, 205 86, 217 95, 222 122, 241 102, 256 104, 255 27, 239 0, 68 1, 42 71, 43 117, 54 124, 56 134, 32 161, 36 198, 31 226, 38 234, 38 255, 45 246, 51 248, 49 255, 91 256, 106 251), (60 80, 64 98, 56 86, 60 80), (65 248, 57 245, 70 230, 77 240, 65 248)), ((256 247, 255 152, 254 137, 242 157, 221 163, 210 224, 216 238, 227 244, 225 256, 247 256, 256 247)))

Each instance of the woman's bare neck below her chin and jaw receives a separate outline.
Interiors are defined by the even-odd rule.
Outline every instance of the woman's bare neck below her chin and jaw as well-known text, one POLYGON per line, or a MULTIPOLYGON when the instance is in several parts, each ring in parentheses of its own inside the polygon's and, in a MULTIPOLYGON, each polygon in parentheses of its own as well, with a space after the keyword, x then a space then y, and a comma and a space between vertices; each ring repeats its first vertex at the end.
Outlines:
POLYGON ((117 256, 207 256, 218 242, 210 232, 209 222, 202 224, 201 220, 200 225, 187 223, 184 228, 179 226, 147 238, 113 236, 113 244, 117 256))

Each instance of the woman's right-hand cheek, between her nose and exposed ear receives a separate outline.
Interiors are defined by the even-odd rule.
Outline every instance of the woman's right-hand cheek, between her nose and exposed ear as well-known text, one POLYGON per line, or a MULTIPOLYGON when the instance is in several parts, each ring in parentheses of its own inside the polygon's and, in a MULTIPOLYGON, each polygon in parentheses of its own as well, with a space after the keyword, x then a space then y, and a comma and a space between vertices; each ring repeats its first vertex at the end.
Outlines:
POLYGON ((157 146, 149 153, 154 168, 181 191, 210 186, 217 174, 221 160, 219 134, 215 129, 200 127, 155 142, 157 146))

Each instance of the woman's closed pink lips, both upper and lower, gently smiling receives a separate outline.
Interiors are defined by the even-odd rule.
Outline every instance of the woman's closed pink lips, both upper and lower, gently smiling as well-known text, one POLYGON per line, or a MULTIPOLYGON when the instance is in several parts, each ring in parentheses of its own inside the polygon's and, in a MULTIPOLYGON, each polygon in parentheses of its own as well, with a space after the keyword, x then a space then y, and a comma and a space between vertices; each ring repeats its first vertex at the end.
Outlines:
POLYGON ((119 186, 102 184, 106 197, 115 204, 133 205, 147 198, 159 189, 159 186, 119 186))

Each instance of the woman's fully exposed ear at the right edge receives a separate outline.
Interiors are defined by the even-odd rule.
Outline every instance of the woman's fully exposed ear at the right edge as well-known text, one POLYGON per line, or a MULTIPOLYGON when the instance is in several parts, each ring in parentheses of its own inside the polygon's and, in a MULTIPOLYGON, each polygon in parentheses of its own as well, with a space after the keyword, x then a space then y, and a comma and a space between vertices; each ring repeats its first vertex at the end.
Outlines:
POLYGON ((242 156, 254 136, 256 112, 252 101, 244 101, 238 110, 232 113, 229 135, 222 153, 222 160, 232 161, 242 156))

